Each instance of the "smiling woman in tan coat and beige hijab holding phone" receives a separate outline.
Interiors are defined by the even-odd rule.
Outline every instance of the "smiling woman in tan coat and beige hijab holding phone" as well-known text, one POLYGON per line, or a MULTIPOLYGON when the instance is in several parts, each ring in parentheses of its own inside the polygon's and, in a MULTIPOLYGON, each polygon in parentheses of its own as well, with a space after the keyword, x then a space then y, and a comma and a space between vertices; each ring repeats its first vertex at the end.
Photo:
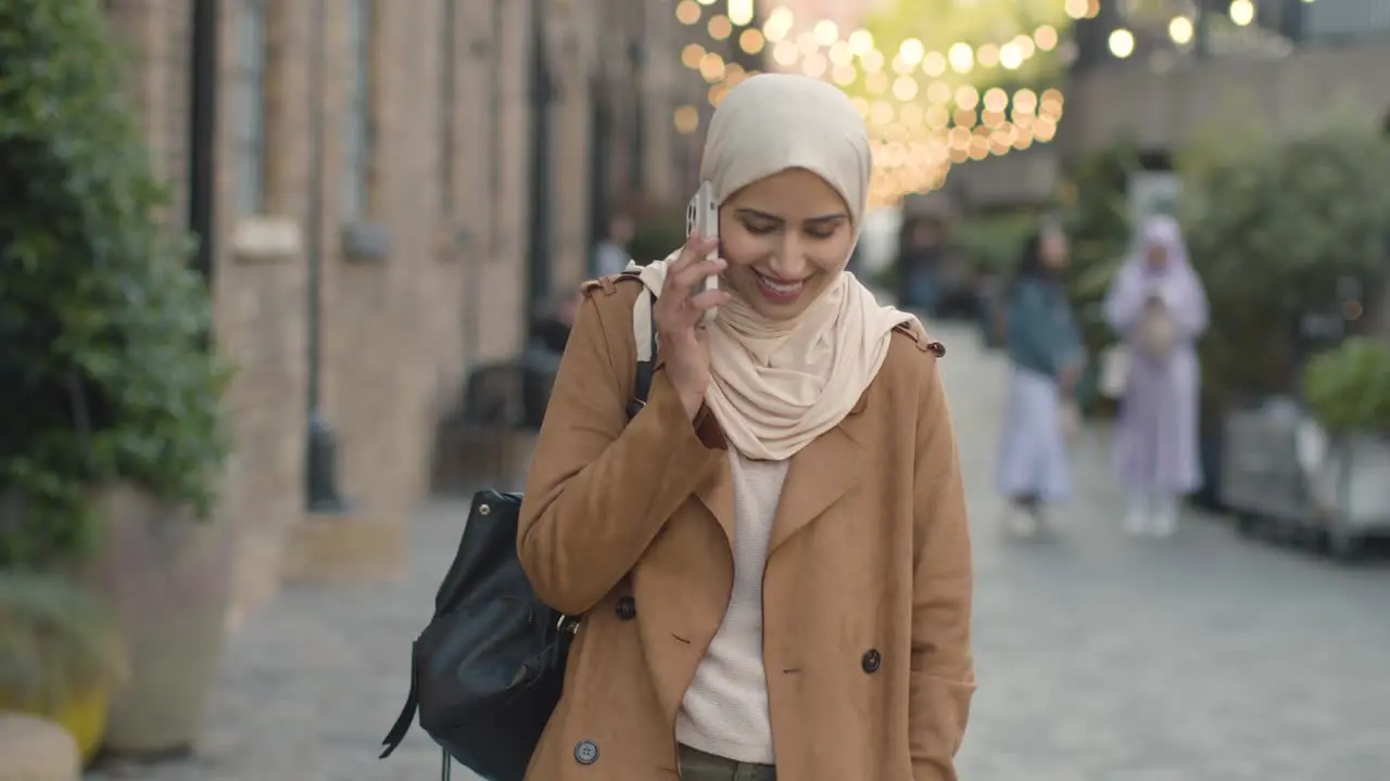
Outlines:
POLYGON ((587 286, 517 539, 582 614, 527 778, 956 778, 965 495, 940 345, 844 271, 869 175, 840 90, 751 78, 701 167, 721 243, 587 286))

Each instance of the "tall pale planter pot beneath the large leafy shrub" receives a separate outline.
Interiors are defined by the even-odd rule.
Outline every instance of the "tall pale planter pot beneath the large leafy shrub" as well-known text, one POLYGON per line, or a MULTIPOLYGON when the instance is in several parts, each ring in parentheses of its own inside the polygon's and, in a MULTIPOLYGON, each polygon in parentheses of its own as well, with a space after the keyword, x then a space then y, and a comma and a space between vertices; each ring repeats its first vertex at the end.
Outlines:
POLYGON ((225 523, 199 523, 129 485, 96 498, 104 541, 86 568, 129 650, 103 746, 165 756, 192 748, 221 657, 232 578, 225 523))

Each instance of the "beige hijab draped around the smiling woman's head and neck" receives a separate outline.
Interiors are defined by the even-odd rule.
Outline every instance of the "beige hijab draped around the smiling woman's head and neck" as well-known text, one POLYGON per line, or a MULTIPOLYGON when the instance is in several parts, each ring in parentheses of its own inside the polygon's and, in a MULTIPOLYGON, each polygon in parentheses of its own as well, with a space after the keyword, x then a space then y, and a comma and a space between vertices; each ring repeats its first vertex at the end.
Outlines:
MULTIPOLYGON (((844 93, 817 79, 753 76, 714 113, 701 178, 723 203, 788 168, 820 175, 845 199, 858 242, 872 170, 863 120, 844 93)), ((641 268, 646 290, 632 318, 639 359, 649 357, 651 296, 660 293, 677 254, 641 268)), ((878 306, 848 271, 791 321, 769 321, 735 297, 708 332, 706 404, 744 456, 790 459, 849 414, 901 324, 922 331, 912 314, 878 306)))

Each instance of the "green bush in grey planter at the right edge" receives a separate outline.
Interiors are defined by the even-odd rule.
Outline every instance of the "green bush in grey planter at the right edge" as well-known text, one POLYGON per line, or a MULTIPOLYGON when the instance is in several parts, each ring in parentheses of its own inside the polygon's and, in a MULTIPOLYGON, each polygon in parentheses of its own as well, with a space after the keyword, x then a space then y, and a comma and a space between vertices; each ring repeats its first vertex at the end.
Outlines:
POLYGON ((1311 493, 1333 553, 1350 556, 1368 531, 1390 531, 1390 346, 1347 339, 1309 361, 1302 389, 1330 439, 1311 493))

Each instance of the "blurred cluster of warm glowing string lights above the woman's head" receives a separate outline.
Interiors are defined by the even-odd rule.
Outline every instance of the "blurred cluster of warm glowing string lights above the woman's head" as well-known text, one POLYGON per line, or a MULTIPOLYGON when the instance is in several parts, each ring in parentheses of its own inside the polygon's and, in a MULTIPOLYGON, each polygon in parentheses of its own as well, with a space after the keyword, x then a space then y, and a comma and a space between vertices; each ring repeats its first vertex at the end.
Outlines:
MULTIPOLYGON (((1248 0, 1236 0, 1241 1, 1248 0)), ((874 139, 870 183, 870 203, 874 206, 895 203, 908 192, 940 188, 952 165, 1029 149, 1055 138, 1063 104, 1061 90, 1048 89, 1038 96, 1024 88, 1011 97, 1002 88, 980 94, 969 83, 952 86, 941 81, 949 79, 952 72, 956 78, 969 75, 976 68, 1019 69, 1038 51, 1052 51, 1059 46, 1061 33, 1052 25, 1041 25, 1031 33, 1015 35, 1002 43, 972 47, 958 42, 944 51, 929 51, 920 39, 908 38, 898 43, 890 58, 876 46, 867 29, 842 35, 834 21, 823 18, 798 32, 796 19, 785 6, 773 8, 760 28, 749 26, 756 15, 753 3, 680 0, 676 15, 687 26, 705 18, 703 28, 716 42, 728 40, 737 32, 735 43, 748 54, 771 49, 771 60, 783 68, 795 68, 841 88, 860 83, 869 97, 852 96, 852 101, 874 139), (723 6, 723 13, 710 13, 705 18, 703 8, 716 3, 723 6), (929 79, 924 89, 917 72, 929 79)), ((1091 18, 1099 11, 1099 0, 1065 0, 1063 8, 1072 18, 1091 18)), ((1240 11, 1233 8, 1232 13, 1236 18, 1240 11)), ((1133 33, 1116 32, 1111 35, 1112 53, 1127 57, 1133 53, 1133 33)), ((681 63, 709 82, 706 100, 712 106, 752 75, 698 43, 681 51, 681 63)), ((673 121, 677 132, 694 133, 699 129, 699 111, 694 106, 681 106, 673 121)))

